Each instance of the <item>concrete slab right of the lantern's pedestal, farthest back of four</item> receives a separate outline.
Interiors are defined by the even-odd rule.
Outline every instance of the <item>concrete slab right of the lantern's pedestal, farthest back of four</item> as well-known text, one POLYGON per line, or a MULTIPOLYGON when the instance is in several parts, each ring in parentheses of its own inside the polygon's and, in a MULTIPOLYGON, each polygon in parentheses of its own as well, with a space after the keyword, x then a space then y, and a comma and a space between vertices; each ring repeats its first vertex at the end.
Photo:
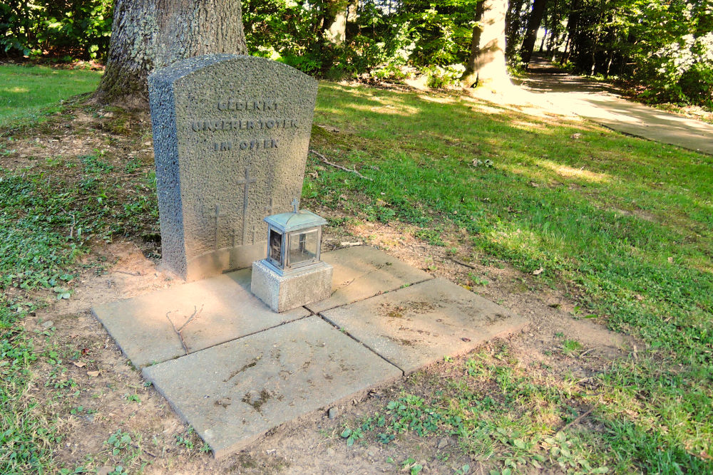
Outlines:
POLYGON ((326 252, 322 254, 322 260, 334 267, 332 296, 309 303, 306 307, 314 313, 433 278, 431 274, 371 246, 326 252))

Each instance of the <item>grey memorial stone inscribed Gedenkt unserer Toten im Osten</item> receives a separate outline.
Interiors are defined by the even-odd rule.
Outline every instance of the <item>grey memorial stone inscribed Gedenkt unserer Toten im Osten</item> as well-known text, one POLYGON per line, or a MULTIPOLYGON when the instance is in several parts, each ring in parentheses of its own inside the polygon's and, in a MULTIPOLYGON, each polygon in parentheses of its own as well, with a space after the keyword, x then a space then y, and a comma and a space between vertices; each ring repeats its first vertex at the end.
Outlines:
POLYGON ((149 77, 163 266, 187 281, 252 265, 265 216, 302 193, 317 81, 252 56, 188 58, 149 77))

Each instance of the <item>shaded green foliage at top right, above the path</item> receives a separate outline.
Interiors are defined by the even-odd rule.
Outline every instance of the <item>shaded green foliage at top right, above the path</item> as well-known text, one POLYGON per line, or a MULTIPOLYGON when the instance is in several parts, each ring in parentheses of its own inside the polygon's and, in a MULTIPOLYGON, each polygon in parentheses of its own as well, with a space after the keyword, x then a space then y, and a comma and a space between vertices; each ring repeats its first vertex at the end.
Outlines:
MULTIPOLYGON (((508 12, 513 66, 520 61, 515 55, 529 18, 528 5, 511 1, 508 12)), ((652 102, 711 107, 712 13, 711 0, 553 0, 543 26, 548 46, 559 47, 555 53, 575 71, 633 81, 640 96, 652 102)))

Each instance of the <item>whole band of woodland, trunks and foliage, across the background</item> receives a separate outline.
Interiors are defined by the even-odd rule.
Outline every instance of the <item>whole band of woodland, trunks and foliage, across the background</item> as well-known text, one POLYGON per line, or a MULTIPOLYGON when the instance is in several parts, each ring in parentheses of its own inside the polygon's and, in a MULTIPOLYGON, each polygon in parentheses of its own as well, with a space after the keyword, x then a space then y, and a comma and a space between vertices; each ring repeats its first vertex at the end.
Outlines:
MULTIPOLYGON (((245 51, 235 29, 240 10, 224 2, 117 0, 116 38, 97 97, 120 91, 140 97, 150 68, 185 57, 193 46, 197 53, 245 51), (172 15, 181 19, 173 26, 172 15), (202 31, 195 27, 200 22, 202 31)), ((401 80, 418 70, 429 85, 443 87, 461 76, 467 85, 503 78, 504 24, 505 57, 516 70, 539 49, 577 73, 625 80, 647 100, 713 107, 713 0, 508 3, 244 0, 242 14, 248 53, 328 79, 401 80)), ((0 46, 9 55, 106 58, 112 4, 5 1, 0 46)))

